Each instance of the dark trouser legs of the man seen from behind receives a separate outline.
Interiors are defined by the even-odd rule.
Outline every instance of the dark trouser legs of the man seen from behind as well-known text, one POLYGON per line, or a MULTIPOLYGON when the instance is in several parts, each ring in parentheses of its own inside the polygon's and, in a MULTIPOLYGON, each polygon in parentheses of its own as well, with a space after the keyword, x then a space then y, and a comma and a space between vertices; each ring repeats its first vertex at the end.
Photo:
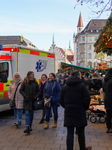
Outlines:
MULTIPOLYGON (((85 150, 85 134, 84 134, 85 127, 77 128, 78 132, 78 142, 80 150, 85 150)), ((73 150, 74 146, 74 127, 67 127, 67 150, 73 150)))

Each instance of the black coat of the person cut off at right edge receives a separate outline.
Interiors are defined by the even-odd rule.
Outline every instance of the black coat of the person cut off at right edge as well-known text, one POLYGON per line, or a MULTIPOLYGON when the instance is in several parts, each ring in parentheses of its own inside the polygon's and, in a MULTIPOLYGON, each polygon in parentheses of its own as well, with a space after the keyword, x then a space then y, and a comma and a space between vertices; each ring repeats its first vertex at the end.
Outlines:
POLYGON ((112 75, 107 74, 104 78, 104 102, 105 108, 112 110, 112 75))

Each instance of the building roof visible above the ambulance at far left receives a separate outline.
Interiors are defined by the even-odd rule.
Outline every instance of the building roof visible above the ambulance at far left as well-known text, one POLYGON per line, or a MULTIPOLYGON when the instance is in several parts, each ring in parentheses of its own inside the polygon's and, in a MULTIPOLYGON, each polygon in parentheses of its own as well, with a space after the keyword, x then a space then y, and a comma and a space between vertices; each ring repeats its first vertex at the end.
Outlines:
POLYGON ((21 43, 21 36, 0 36, 0 45, 9 45, 9 44, 17 44, 17 45, 23 45, 23 46, 29 46, 29 47, 35 47, 36 46, 31 43, 29 40, 23 38, 23 42, 21 43))

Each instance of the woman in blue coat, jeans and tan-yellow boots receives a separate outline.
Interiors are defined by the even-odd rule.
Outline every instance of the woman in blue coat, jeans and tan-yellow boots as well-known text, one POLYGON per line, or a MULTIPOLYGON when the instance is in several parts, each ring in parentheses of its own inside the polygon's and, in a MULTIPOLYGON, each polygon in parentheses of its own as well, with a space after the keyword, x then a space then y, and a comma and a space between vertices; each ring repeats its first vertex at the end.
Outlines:
MULTIPOLYGON (((56 76, 54 73, 49 74, 49 79, 45 84, 44 87, 44 98, 51 98, 51 107, 53 109, 54 113, 54 124, 53 128, 57 127, 57 120, 58 120, 58 106, 59 106, 59 95, 60 95, 60 85, 59 82, 56 81, 56 76)), ((44 126, 44 129, 49 128, 49 121, 50 121, 50 113, 51 113, 51 107, 46 108, 46 124, 44 126)))

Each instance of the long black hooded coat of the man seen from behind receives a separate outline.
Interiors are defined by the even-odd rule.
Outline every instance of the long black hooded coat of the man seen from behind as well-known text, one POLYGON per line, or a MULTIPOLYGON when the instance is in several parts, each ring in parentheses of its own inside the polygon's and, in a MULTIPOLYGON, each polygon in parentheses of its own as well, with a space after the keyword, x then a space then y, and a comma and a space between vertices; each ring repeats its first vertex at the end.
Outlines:
POLYGON ((86 110, 89 108, 90 95, 80 78, 72 76, 68 79, 62 88, 59 102, 65 108, 64 126, 87 125, 86 110))

